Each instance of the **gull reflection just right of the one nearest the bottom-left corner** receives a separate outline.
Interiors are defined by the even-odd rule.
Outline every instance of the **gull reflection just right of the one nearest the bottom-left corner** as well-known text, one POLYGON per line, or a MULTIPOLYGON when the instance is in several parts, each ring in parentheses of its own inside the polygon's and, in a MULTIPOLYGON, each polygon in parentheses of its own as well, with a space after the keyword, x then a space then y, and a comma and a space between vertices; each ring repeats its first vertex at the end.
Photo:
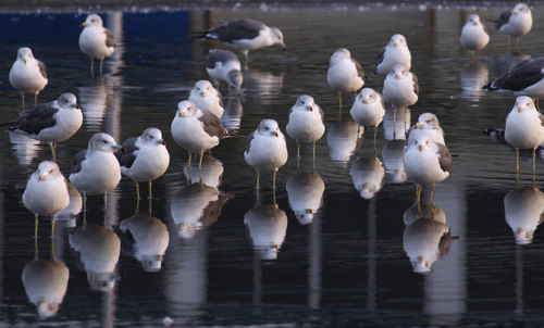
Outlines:
POLYGON ((115 266, 121 240, 111 230, 95 224, 84 225, 70 235, 70 245, 79 254, 92 290, 111 291, 115 286, 115 266))

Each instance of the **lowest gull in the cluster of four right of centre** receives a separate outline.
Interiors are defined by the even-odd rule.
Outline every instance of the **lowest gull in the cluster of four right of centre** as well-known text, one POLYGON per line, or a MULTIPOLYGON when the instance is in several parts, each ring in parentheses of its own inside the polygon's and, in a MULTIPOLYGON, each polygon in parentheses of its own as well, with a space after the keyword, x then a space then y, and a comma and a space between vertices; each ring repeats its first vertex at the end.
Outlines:
POLYGON ((349 114, 359 126, 374 126, 375 142, 378 125, 382 123, 385 115, 385 99, 374 89, 364 88, 355 99, 349 114))

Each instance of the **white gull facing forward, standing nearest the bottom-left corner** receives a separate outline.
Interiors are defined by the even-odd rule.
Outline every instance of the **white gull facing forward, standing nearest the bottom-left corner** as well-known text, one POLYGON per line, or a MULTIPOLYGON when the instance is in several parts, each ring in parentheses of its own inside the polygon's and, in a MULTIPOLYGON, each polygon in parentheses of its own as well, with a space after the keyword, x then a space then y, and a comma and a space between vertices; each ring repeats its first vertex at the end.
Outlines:
POLYGON ((38 215, 54 216, 67 207, 70 195, 66 184, 66 178, 55 162, 39 163, 38 169, 28 178, 23 193, 23 203, 34 213, 36 224, 38 215))

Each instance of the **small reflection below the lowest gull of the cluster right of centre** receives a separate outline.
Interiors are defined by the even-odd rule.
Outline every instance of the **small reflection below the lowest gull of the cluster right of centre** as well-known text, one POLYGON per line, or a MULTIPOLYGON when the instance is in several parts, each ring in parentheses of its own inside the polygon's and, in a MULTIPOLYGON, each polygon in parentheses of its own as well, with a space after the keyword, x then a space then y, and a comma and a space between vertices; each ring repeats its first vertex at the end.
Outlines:
POLYGON ((366 200, 372 199, 383 187, 385 168, 379 159, 358 159, 349 172, 354 186, 366 200))

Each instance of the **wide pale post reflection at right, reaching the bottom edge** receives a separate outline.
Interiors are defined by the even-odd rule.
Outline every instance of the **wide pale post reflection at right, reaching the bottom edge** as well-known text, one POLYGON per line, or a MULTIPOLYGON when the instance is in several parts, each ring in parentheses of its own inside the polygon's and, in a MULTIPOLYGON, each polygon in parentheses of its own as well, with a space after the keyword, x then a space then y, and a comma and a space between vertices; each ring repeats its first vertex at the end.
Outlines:
POLYGON ((466 198, 462 186, 438 184, 434 201, 447 214, 447 225, 454 240, 449 253, 433 264, 425 276, 424 312, 429 325, 456 326, 466 312, 466 198))

